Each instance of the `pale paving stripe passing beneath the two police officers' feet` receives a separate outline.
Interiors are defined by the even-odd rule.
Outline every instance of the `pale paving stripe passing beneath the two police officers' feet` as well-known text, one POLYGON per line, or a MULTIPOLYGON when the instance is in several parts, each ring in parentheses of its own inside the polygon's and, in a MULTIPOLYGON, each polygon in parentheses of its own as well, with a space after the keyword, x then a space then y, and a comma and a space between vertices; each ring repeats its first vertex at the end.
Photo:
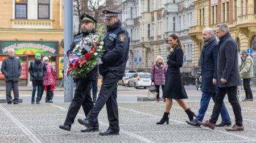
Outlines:
MULTIPOLYGON (((65 109, 64 107, 57 106, 57 105, 55 105, 55 104, 51 104, 51 105, 54 106, 54 107, 57 107, 57 108, 59 108, 59 109, 61 109, 61 110, 68 111, 68 109, 65 109)), ((81 115, 81 114, 77 114, 77 116, 80 116, 80 118, 84 118, 84 115, 81 115)), ((106 127, 109 126, 108 124, 106 124, 106 123, 104 123, 104 122, 100 122, 100 121, 99 121, 99 123, 105 125, 106 127)), ((134 133, 125 131, 125 130, 123 130, 123 129, 120 129, 120 132, 125 133, 125 134, 127 134, 127 135, 130 135, 130 136, 132 136, 132 137, 134 137, 134 138, 137 138, 138 140, 141 140, 141 141, 144 141, 144 142, 154 143, 154 141, 148 140, 147 138, 144 138, 144 137, 139 136, 139 135, 136 135, 136 134, 134 134, 134 133)))

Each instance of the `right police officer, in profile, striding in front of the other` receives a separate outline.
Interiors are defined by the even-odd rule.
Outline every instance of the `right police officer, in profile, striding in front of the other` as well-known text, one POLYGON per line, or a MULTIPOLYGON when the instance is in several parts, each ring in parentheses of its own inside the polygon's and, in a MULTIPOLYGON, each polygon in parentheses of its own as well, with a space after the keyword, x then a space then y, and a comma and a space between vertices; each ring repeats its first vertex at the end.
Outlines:
POLYGON ((118 12, 104 10, 107 33, 104 37, 105 53, 98 60, 100 74, 103 76, 100 93, 92 110, 86 118, 78 119, 79 123, 93 128, 102 107, 106 104, 109 119, 109 128, 100 132, 100 135, 118 135, 119 120, 117 107, 117 83, 125 73, 129 52, 130 38, 128 32, 118 20, 118 12))

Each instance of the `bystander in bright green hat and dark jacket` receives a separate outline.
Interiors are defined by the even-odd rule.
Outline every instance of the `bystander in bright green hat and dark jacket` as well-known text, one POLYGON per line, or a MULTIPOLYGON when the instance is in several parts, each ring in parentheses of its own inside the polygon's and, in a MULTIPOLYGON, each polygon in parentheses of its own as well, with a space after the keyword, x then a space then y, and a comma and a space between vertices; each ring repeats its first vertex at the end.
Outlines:
POLYGON ((41 92, 43 90, 43 77, 46 75, 46 64, 41 60, 41 55, 39 53, 35 54, 35 60, 30 64, 30 67, 28 68, 28 72, 30 72, 30 75, 32 77, 32 98, 31 98, 31 104, 35 103, 35 92, 36 88, 38 88, 38 94, 36 97, 36 103, 40 103, 41 99, 41 92))

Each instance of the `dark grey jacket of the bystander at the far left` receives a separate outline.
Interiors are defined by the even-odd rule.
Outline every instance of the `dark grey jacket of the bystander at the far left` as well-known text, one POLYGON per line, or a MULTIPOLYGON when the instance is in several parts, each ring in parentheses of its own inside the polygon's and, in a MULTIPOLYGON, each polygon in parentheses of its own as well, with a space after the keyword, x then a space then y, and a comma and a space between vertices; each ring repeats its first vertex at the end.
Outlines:
POLYGON ((1 72, 5 75, 5 81, 19 81, 21 69, 19 59, 15 57, 5 58, 2 62, 1 72))

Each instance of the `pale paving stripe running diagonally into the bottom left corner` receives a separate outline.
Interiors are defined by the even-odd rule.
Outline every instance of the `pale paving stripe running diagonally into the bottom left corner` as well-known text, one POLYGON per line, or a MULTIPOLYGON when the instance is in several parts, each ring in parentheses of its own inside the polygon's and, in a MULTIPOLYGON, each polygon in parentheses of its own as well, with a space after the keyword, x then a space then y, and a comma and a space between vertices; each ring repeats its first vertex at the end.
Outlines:
POLYGON ((0 109, 5 112, 5 114, 13 120, 14 124, 16 124, 19 129, 22 130, 22 132, 27 135, 27 137, 32 141, 32 142, 41 142, 36 135, 34 135, 25 125, 19 122, 18 119, 16 119, 9 111, 7 111, 1 104, 0 104, 0 109))

